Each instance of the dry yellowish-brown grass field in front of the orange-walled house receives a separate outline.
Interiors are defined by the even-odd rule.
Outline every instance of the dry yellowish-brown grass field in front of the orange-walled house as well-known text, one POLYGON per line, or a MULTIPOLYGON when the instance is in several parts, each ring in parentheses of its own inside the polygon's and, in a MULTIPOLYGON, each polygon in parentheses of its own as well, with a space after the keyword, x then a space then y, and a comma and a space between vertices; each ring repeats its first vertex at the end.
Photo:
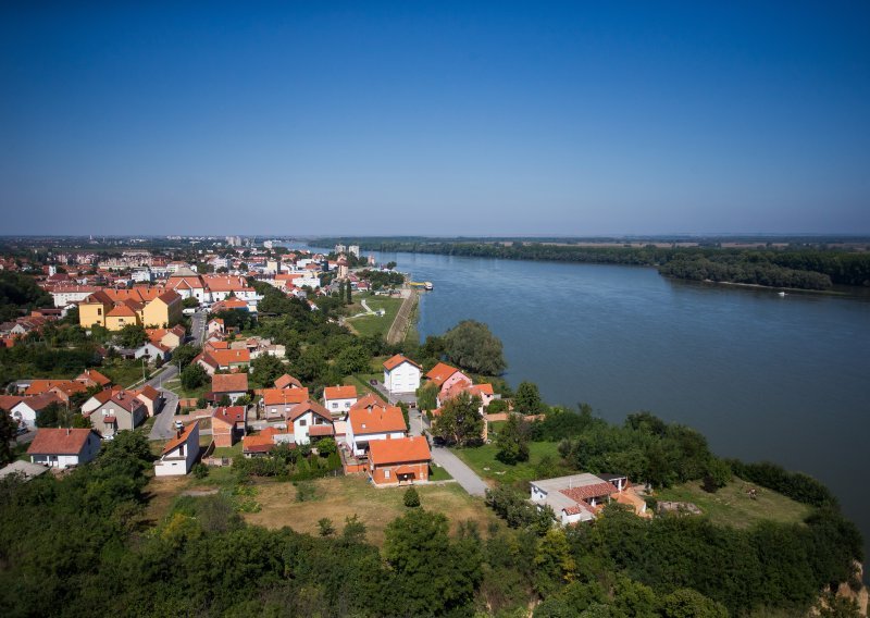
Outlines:
MULTIPOLYGON (((345 518, 355 514, 366 527, 366 536, 375 544, 384 541, 387 523, 405 514, 405 487, 375 489, 364 477, 338 477, 312 481, 315 499, 297 502, 293 483, 258 484, 260 512, 245 514, 249 523, 265 528, 288 526, 297 532, 318 534, 318 520, 330 518, 339 531, 345 518)), ((460 521, 476 521, 482 533, 490 522, 498 521, 483 500, 473 498, 458 483, 418 485, 423 508, 443 512, 450 519, 455 532, 460 521)))

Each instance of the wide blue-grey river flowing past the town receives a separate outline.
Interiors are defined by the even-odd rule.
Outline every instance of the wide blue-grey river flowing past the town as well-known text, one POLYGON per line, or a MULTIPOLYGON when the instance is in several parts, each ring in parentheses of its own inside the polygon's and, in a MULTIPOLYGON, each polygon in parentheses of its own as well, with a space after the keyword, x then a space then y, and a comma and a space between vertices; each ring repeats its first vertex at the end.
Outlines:
POLYGON ((807 472, 870 540, 870 294, 780 297, 636 267, 376 258, 433 282, 422 337, 486 322, 511 386, 530 380, 547 401, 585 401, 614 422, 650 410, 700 430, 721 456, 807 472))

